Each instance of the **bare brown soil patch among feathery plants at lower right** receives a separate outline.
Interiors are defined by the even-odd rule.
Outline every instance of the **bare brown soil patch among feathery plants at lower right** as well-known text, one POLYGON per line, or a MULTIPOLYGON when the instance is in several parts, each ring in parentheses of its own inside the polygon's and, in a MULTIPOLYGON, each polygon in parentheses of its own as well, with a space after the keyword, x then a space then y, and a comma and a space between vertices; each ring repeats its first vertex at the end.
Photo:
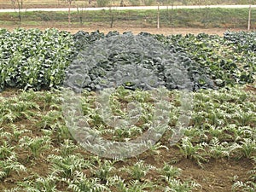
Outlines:
POLYGON ((230 191, 235 177, 244 180, 248 170, 253 169, 249 160, 211 160, 204 164, 203 169, 191 160, 182 160, 177 166, 183 169, 183 177, 195 179, 205 192, 230 191))

